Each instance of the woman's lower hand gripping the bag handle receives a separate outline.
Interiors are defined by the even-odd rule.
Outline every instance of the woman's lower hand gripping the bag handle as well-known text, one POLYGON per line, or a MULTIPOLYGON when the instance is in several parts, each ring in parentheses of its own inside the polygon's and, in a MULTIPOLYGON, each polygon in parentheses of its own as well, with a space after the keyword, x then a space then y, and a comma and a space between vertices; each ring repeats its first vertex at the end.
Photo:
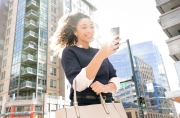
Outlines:
POLYGON ((94 82, 90 87, 97 95, 99 95, 100 93, 108 93, 111 91, 110 86, 104 85, 98 81, 94 82))

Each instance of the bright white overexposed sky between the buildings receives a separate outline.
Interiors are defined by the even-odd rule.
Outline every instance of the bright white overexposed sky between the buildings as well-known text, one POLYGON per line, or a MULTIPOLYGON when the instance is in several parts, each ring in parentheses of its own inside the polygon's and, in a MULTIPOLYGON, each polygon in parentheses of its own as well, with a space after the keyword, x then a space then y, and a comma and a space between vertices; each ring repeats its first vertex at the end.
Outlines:
MULTIPOLYGON (((169 57, 165 40, 168 37, 162 31, 158 19, 160 16, 155 0, 91 0, 97 7, 94 19, 99 25, 102 41, 109 40, 107 34, 113 26, 120 27, 122 40, 130 39, 131 44, 153 41, 158 46, 165 64, 171 90, 178 87, 178 77, 174 61, 169 57)), ((180 113, 180 104, 175 104, 180 113)))

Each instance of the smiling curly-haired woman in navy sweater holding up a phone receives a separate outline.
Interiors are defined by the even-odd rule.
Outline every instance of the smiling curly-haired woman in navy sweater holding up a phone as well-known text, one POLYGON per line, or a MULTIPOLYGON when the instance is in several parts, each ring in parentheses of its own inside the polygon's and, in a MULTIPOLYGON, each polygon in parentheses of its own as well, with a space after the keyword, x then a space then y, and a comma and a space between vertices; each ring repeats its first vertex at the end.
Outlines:
MULTIPOLYGON (((61 64, 71 85, 76 82, 78 105, 100 104, 99 93, 106 102, 111 102, 120 81, 107 57, 116 52, 120 39, 94 49, 89 46, 94 36, 94 24, 89 16, 71 14, 59 23, 56 38, 52 38, 52 49, 60 54, 60 48, 65 47, 61 64)), ((70 100, 72 106, 73 88, 70 100)))

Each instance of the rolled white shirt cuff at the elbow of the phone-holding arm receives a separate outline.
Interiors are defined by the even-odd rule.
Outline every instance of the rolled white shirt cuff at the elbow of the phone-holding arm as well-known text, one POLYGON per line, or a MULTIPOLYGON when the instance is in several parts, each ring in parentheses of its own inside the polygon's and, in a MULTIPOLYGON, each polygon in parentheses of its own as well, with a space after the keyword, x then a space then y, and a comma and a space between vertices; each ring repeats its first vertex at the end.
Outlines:
POLYGON ((73 88, 76 80, 76 91, 81 92, 88 88, 93 80, 89 80, 86 76, 86 70, 85 68, 82 68, 81 72, 74 78, 73 80, 73 88))

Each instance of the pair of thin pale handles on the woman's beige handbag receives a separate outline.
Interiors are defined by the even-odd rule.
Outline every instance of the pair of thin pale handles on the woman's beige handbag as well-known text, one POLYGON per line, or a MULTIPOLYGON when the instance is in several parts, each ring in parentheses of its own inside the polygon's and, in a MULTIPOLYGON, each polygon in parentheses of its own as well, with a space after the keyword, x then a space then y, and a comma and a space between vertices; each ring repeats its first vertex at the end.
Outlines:
MULTIPOLYGON (((99 94, 99 96, 100 96, 101 104, 103 105, 106 113, 109 114, 110 112, 109 112, 109 110, 108 110, 108 108, 106 106, 106 102, 103 99, 101 93, 99 94)), ((79 109, 78 109, 78 102, 77 102, 77 96, 76 96, 76 79, 74 79, 74 108, 75 108, 77 117, 80 118, 80 113, 79 113, 79 109)))

